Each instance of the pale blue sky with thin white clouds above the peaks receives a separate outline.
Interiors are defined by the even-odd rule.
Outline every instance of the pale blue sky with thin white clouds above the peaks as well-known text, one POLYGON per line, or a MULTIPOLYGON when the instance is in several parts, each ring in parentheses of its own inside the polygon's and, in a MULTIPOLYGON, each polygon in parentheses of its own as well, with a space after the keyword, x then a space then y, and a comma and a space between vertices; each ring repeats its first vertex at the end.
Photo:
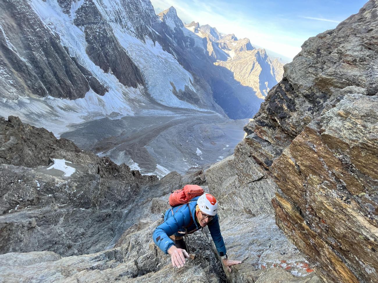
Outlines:
POLYGON ((302 43, 335 28, 367 2, 365 0, 265 0, 200 1, 151 0, 155 9, 174 6, 183 22, 209 24, 223 33, 248 37, 255 45, 290 60, 302 43))

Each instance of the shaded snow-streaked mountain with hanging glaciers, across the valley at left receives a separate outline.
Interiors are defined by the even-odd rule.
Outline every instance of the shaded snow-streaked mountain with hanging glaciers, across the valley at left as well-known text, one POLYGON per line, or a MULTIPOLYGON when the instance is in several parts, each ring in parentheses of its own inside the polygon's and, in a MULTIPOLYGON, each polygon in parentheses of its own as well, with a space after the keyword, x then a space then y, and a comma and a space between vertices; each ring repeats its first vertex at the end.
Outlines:
POLYGON ((173 7, 159 16, 148 0, 1 0, 0 8, 4 117, 59 134, 133 115, 140 103, 246 118, 262 101, 252 89, 250 101, 240 97, 250 85, 213 64, 233 57, 222 35, 208 25, 189 32, 173 7))

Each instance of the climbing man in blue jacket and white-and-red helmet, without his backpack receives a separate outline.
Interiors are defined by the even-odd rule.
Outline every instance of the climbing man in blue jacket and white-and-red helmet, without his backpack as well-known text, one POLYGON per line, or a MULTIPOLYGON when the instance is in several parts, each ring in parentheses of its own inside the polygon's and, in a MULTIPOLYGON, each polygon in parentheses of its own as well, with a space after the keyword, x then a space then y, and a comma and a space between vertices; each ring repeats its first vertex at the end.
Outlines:
POLYGON ((229 260, 226 247, 220 233, 218 203, 211 194, 203 194, 192 198, 188 203, 170 208, 164 214, 164 222, 153 231, 153 241, 166 254, 171 255, 172 265, 180 268, 185 264, 185 257, 189 258, 188 250, 183 236, 192 234, 208 226, 210 235, 222 257, 223 265, 231 272, 230 266, 242 263, 229 260))

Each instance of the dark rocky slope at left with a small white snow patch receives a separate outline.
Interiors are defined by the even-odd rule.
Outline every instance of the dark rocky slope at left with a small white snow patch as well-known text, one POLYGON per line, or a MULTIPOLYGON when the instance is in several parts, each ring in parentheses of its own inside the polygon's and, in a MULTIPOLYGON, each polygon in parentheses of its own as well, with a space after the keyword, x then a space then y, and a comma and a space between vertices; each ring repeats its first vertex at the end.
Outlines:
POLYGON ((157 181, 156 176, 141 176, 83 152, 17 117, 0 123, 2 253, 50 250, 67 256, 101 251, 128 225, 134 197, 157 181), (69 161, 73 175, 49 169, 53 159, 69 161))

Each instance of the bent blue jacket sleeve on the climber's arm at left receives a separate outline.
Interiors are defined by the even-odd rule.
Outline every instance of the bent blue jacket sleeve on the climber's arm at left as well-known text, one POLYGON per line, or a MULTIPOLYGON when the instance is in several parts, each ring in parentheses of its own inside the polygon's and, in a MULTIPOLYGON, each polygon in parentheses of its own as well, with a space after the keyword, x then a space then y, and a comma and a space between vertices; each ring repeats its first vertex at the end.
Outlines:
POLYGON ((174 245, 169 236, 175 234, 181 227, 186 226, 189 223, 190 216, 189 220, 186 218, 187 217, 185 217, 183 212, 178 211, 166 221, 161 223, 158 227, 156 227, 155 231, 153 231, 153 241, 165 254, 168 254, 168 249, 174 245))

